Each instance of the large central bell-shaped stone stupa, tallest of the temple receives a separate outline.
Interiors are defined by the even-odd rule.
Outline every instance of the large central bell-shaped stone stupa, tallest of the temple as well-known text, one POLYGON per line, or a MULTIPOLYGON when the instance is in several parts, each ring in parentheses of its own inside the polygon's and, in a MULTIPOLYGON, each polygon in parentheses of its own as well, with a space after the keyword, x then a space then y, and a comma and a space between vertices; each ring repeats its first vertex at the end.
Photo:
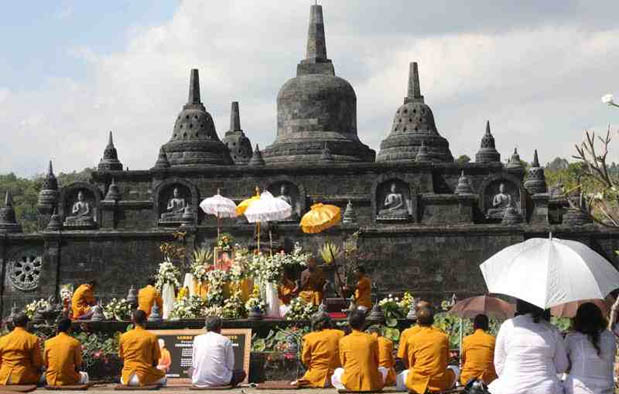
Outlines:
POLYGON ((264 151, 267 164, 373 162, 375 152, 357 136, 357 96, 327 58, 322 6, 313 5, 307 54, 297 76, 277 96, 277 138, 264 151))

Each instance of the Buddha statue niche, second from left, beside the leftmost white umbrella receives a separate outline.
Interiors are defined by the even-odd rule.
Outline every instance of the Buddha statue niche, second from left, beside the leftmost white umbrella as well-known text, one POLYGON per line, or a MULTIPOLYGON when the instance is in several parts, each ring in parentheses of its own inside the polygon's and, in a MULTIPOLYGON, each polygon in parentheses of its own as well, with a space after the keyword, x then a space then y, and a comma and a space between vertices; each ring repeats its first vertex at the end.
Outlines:
POLYGON ((155 196, 154 208, 159 226, 197 224, 198 191, 191 183, 179 179, 168 180, 157 187, 155 196))

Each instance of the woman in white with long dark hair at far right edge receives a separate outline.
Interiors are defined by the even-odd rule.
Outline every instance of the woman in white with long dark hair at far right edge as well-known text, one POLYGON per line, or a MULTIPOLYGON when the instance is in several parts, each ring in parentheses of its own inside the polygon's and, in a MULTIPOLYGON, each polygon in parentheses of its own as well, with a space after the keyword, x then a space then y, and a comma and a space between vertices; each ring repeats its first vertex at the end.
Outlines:
POLYGON ((567 394, 614 393, 613 364, 617 345, 602 311, 588 302, 578 307, 574 331, 565 338, 571 368, 564 382, 567 394))

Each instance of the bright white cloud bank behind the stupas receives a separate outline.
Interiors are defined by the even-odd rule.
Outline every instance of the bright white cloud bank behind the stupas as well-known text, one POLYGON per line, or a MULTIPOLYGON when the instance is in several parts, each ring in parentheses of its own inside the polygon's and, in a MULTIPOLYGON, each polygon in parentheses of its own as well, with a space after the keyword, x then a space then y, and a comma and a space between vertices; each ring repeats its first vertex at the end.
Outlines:
MULTIPOLYGON (((372 15, 353 10, 353 3, 336 4, 324 6, 329 57, 355 87, 359 134, 376 150, 402 103, 413 60, 454 156, 474 155, 486 119, 503 158, 518 146, 530 160, 537 147, 542 161, 569 157, 584 128, 619 119, 600 103, 616 88, 610 84, 619 29, 563 24, 418 36, 374 31, 372 15), (360 18, 362 32, 349 25, 360 18)), ((0 89, 0 128, 9 147, 0 172, 42 172, 49 158, 59 171, 96 165, 108 130, 126 166, 150 168, 187 99, 193 67, 219 135, 228 128, 230 102, 238 100, 252 142, 270 144, 277 92, 304 55, 308 14, 305 2, 289 0, 186 0, 167 23, 132 30, 123 51, 69 50, 87 61, 87 80, 0 89)))

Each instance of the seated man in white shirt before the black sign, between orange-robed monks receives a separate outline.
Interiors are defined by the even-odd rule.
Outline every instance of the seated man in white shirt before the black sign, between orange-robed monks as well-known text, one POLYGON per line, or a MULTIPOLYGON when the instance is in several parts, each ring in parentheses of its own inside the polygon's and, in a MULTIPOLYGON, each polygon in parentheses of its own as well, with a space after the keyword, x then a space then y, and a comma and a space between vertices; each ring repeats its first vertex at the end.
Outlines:
POLYGON ((191 383, 198 387, 236 386, 247 376, 234 369, 232 341, 221 335, 221 319, 206 318, 206 334, 193 339, 191 383))

